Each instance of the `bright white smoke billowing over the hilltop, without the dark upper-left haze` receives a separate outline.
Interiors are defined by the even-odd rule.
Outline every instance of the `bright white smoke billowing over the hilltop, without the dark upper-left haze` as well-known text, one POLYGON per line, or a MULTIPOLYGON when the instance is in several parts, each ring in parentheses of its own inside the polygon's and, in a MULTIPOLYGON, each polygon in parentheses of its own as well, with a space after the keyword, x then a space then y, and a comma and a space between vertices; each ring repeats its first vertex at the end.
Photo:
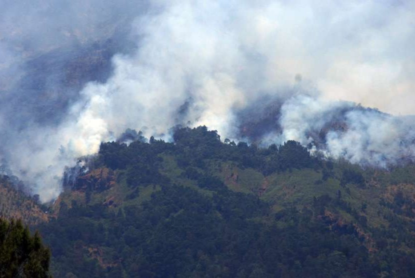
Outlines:
MULTIPOLYGON (((96 37, 105 37, 96 15, 117 18, 108 12, 87 17, 96 37)), ((168 139, 175 124, 205 124, 240 139, 238 115, 265 109, 252 107, 265 96, 277 103, 278 128, 263 131, 263 141, 295 139, 375 166, 415 156, 413 118, 397 116, 412 114, 415 103, 411 2, 154 0, 130 18, 122 22, 135 50, 115 54, 110 77, 87 83, 56 123, 13 129, 1 113, 2 130, 14 138, 3 156, 42 201, 59 193, 65 165, 126 128, 168 139)))

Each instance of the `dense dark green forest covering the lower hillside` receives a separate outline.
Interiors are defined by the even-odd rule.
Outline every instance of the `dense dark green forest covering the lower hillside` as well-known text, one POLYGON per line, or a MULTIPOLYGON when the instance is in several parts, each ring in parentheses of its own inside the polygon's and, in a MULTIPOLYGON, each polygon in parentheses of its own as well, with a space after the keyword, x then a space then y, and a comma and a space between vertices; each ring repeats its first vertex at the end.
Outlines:
MULTIPOLYGON (((330 201, 318 199, 322 205, 330 201)), ((317 212, 293 207, 278 212, 274 224, 255 222, 253 217, 266 217, 270 210, 253 195, 222 190, 209 198, 168 185, 142 206, 126 206, 124 213, 105 212, 93 220, 90 211, 75 205, 41 226, 58 264, 57 276, 110 277, 121 269, 131 277, 375 273, 353 226, 329 229, 317 212), (119 264, 103 268, 87 259, 81 246, 96 244, 119 264)))

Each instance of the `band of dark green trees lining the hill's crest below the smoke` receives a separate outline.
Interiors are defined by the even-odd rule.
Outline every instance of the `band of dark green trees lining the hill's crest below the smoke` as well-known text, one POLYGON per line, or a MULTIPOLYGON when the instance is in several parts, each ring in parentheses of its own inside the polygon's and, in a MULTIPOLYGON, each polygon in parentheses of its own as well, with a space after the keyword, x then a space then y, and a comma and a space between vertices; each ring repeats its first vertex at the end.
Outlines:
POLYGON ((178 165, 186 171, 190 171, 188 167, 205 167, 206 159, 234 160, 242 168, 255 168, 264 174, 321 166, 320 161, 310 157, 307 148, 295 141, 287 141, 279 148, 271 145, 268 149, 257 148, 254 144, 248 146, 242 141, 237 145, 221 143, 217 131, 207 130, 206 126, 176 128, 173 138, 174 144, 153 137, 149 143, 134 141, 128 146, 116 142, 101 143, 100 160, 111 169, 127 168, 128 183, 131 185, 166 182, 156 174, 160 162, 157 154, 162 152, 174 154, 178 165))

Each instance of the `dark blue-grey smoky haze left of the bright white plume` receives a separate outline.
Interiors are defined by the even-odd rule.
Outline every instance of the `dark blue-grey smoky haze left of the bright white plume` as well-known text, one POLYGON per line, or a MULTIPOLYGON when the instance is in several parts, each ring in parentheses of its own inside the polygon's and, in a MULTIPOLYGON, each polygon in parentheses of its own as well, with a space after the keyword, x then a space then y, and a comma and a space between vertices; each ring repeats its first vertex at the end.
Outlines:
POLYGON ((85 82, 105 81, 111 57, 136 47, 130 22, 146 7, 130 0, 5 0, 0 9, 1 112, 21 125, 59 122, 85 82))

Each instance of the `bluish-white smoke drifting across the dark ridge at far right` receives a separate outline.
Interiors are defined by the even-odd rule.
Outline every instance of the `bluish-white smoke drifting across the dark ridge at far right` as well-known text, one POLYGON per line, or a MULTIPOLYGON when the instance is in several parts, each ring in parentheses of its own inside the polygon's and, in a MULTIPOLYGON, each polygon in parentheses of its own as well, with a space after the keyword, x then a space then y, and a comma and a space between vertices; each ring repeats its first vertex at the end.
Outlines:
MULTIPOLYGON (((266 115, 258 119, 266 122, 266 115)), ((353 102, 302 94, 280 104, 278 126, 263 126, 259 140, 281 144, 293 139, 326 157, 386 168, 415 161, 414 120, 415 116, 393 116, 353 102)))

